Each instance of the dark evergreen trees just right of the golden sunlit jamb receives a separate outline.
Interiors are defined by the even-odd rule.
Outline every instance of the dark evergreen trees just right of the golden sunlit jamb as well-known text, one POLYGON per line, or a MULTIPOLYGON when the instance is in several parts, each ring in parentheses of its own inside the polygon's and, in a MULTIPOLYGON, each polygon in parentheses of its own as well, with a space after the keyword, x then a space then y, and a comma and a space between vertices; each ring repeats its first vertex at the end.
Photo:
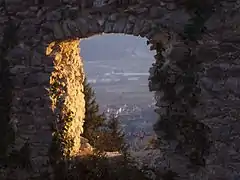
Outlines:
POLYGON ((114 114, 107 118, 104 113, 100 113, 95 92, 87 79, 84 80, 84 95, 86 112, 82 136, 100 151, 121 151, 125 143, 119 119, 114 114))

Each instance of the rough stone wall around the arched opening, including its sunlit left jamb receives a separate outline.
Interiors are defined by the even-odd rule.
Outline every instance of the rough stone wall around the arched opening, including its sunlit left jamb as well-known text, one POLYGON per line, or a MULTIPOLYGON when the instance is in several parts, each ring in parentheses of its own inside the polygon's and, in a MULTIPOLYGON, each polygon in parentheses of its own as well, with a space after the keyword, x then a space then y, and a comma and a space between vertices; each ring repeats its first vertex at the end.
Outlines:
MULTIPOLYGON (((50 124, 55 131, 62 132, 65 125, 62 120, 69 116, 71 121, 64 136, 73 144, 68 155, 78 155, 85 112, 81 38, 102 33, 146 37, 153 43, 153 49, 154 43, 162 42, 165 57, 171 62, 181 59, 186 50, 179 34, 190 15, 173 0, 139 0, 123 7, 94 1, 92 7, 85 9, 74 0, 0 0, 0 3, 0 41, 10 21, 17 25, 17 43, 8 49, 6 56, 13 85, 9 117, 16 135, 9 152, 21 149, 26 142, 31 150, 31 170, 10 168, 13 179, 34 179, 51 173, 50 124)), ((196 47, 203 68, 196 72, 201 77, 202 104, 195 115, 211 127, 215 142, 204 171, 208 174, 205 179, 210 180, 231 179, 234 173, 240 173, 239 8, 239 1, 223 1, 207 21, 207 32, 196 47)), ((156 60, 150 68, 150 82, 159 63, 156 60)), ((171 63, 167 68, 171 68, 171 63)), ((150 90, 156 91, 160 113, 163 101, 158 84, 150 83, 150 90)), ((175 159, 169 167, 181 174, 182 164, 175 159)), ((191 174, 183 177, 194 178, 191 174)), ((199 175, 195 179, 204 178, 199 175)))

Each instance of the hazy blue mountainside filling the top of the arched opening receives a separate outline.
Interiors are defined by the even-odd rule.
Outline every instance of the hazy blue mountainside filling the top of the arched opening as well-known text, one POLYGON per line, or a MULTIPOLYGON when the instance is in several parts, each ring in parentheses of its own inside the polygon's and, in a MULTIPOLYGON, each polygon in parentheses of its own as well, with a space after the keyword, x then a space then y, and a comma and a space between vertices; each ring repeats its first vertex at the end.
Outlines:
POLYGON ((104 35, 104 38, 93 36, 81 41, 81 55, 85 61, 118 60, 136 56, 150 57, 146 41, 145 38, 133 38, 129 35, 108 34, 104 35))

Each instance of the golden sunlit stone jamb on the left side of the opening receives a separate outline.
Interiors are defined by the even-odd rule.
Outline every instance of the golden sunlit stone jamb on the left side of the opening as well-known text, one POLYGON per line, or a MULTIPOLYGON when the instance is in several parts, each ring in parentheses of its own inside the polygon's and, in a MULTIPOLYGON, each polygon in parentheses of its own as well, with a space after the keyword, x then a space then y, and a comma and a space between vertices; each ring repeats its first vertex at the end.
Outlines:
POLYGON ((83 94, 84 71, 77 40, 53 42, 46 54, 54 57, 54 70, 50 77, 52 111, 56 115, 53 123, 54 139, 60 157, 74 157, 80 150, 80 134, 83 133, 85 101, 83 94))

